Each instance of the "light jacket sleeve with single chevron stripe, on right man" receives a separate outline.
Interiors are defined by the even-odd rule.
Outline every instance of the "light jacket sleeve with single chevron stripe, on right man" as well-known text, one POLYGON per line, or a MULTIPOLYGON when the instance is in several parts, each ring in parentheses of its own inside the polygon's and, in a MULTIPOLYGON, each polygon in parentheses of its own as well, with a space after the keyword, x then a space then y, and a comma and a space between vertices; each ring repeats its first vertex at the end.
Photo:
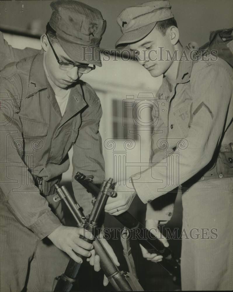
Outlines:
POLYGON ((193 103, 189 133, 179 144, 185 147, 132 177, 144 203, 170 192, 204 168, 213 158, 228 126, 225 122, 232 98, 232 75, 228 70, 218 64, 197 67, 190 83, 193 103))

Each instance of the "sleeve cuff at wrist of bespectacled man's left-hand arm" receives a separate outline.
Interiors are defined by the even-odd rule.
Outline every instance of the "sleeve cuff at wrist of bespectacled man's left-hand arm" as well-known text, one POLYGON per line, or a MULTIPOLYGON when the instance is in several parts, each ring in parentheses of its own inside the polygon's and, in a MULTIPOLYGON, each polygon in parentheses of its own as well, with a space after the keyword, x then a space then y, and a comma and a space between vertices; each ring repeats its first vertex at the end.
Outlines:
POLYGON ((52 211, 48 211, 39 217, 35 223, 28 226, 28 228, 31 229, 39 237, 39 239, 43 239, 51 234, 60 225, 62 225, 60 220, 53 214, 52 211))

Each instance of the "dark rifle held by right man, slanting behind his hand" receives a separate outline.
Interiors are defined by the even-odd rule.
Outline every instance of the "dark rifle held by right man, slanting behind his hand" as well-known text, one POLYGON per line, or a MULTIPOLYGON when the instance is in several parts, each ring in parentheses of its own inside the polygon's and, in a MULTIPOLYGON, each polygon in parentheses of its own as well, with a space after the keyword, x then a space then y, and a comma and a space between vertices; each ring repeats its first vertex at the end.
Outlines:
MULTIPOLYGON (((93 184, 93 181, 91 179, 87 180, 86 176, 82 173, 76 173, 74 178, 94 196, 99 193, 100 190, 93 184)), ((157 253, 157 255, 163 256, 163 260, 159 262, 159 264, 173 277, 173 282, 180 286, 180 260, 173 257, 171 249, 165 247, 161 241, 154 236, 154 234, 152 234, 127 211, 114 217, 127 227, 129 232, 135 232, 139 243, 144 246, 149 253, 157 253)))

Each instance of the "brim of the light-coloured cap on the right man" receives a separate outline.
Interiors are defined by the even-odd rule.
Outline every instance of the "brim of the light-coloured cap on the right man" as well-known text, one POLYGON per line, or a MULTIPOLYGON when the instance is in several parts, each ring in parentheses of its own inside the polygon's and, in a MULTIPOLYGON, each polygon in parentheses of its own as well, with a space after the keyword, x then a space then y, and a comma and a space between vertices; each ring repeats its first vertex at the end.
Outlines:
POLYGON ((131 30, 129 32, 125 32, 120 37, 120 39, 116 42, 115 48, 121 49, 121 48, 126 47, 128 44, 135 43, 136 41, 140 41, 152 31, 156 23, 157 21, 144 25, 140 28, 131 30))

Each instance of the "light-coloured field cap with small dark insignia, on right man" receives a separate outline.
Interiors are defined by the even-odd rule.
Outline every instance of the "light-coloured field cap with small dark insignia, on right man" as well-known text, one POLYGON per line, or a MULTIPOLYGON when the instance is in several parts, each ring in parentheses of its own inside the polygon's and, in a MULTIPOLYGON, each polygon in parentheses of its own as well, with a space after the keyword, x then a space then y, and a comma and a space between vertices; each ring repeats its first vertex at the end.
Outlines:
POLYGON ((124 9, 117 17, 117 23, 123 35, 116 42, 116 48, 143 39, 155 27, 157 21, 172 18, 171 5, 168 0, 155 0, 124 9))

